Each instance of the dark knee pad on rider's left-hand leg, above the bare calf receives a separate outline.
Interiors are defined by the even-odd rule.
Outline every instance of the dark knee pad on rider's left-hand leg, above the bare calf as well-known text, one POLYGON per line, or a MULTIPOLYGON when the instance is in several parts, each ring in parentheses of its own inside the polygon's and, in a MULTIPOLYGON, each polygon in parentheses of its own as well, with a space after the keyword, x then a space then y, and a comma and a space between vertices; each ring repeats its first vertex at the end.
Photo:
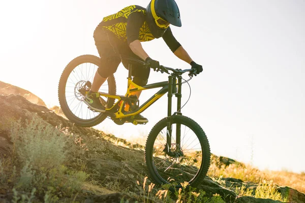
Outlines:
POLYGON ((103 78, 108 78, 110 75, 114 74, 117 70, 117 66, 120 63, 120 57, 111 56, 105 59, 101 59, 100 66, 98 68, 98 73, 103 78))

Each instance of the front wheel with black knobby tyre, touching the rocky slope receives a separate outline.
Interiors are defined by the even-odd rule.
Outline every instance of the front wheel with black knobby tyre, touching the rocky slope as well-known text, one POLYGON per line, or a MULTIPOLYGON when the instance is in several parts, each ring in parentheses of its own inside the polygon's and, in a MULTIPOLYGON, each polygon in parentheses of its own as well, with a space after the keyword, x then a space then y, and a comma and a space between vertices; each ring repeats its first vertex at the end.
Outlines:
POLYGON ((210 165, 206 135, 199 124, 186 116, 173 116, 171 126, 169 132, 164 118, 148 135, 145 146, 148 173, 158 184, 197 185, 210 165))

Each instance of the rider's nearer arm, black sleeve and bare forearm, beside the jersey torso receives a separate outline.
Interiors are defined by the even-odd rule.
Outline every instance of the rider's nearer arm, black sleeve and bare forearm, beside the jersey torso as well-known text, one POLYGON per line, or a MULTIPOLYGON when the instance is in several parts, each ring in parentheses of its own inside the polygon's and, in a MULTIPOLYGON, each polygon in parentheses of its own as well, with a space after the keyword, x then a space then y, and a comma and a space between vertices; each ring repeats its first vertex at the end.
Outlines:
POLYGON ((143 60, 149 57, 139 41, 140 27, 143 25, 144 20, 145 18, 142 12, 131 13, 128 16, 126 27, 127 43, 130 49, 143 60))

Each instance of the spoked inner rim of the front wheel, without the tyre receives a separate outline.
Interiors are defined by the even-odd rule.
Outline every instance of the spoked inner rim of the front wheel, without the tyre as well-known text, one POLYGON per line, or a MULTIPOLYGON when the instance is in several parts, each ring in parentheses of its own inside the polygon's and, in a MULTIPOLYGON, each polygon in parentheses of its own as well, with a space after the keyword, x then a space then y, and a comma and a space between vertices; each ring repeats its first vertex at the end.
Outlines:
POLYGON ((167 127, 160 130, 151 150, 155 173, 163 183, 191 184, 196 179, 203 162, 204 152, 200 140, 187 125, 173 123, 171 146, 170 150, 167 150, 166 131, 167 127), (180 125, 180 145, 176 143, 177 125, 180 125))

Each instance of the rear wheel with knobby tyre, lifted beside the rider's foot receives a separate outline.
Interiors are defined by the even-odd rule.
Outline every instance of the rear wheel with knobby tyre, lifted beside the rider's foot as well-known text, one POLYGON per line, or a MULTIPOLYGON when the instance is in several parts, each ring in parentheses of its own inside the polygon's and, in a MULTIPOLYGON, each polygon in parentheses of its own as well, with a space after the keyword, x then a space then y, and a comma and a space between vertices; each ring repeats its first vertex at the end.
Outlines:
MULTIPOLYGON (((100 58, 94 55, 82 55, 74 58, 65 68, 58 85, 58 99, 65 116, 76 125, 92 127, 107 117, 104 113, 88 109, 83 103, 84 88, 87 90, 93 82, 98 70, 100 58)), ((101 86, 100 92, 116 94, 116 84, 113 75, 101 86)), ((101 97, 102 104, 110 108, 113 98, 101 97)))

